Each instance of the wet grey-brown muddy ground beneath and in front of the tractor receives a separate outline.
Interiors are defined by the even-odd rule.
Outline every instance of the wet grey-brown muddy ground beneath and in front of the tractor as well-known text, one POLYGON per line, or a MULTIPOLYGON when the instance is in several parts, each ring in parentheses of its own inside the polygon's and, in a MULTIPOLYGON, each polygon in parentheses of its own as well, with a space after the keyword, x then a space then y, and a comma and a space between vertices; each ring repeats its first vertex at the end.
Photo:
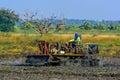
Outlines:
POLYGON ((99 67, 9 66, 23 59, 1 59, 0 80, 120 80, 120 59, 100 57, 99 67))

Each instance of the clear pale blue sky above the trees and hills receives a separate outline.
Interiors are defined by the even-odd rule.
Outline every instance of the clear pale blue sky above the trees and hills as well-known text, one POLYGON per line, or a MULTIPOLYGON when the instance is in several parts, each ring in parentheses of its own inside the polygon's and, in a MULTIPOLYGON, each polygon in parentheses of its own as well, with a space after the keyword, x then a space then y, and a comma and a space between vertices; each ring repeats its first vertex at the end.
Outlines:
POLYGON ((39 17, 120 20, 120 0, 0 0, 0 8, 12 9, 23 16, 25 11, 39 17))

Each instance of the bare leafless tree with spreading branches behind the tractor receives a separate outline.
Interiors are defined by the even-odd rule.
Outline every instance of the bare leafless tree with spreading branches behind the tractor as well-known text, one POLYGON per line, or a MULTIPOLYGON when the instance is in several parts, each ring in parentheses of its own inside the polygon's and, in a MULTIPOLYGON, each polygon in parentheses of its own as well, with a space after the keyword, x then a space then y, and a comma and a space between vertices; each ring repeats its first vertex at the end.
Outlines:
MULTIPOLYGON (((52 15, 50 18, 43 18, 43 19, 34 19, 34 17, 37 16, 37 12, 28 12, 26 11, 24 16, 27 18, 25 19, 20 19, 22 20, 25 24, 30 24, 31 27, 37 31, 38 33, 42 34, 47 34, 49 33, 53 28, 51 27, 53 25, 53 20, 56 19, 56 16, 52 15)), ((56 25, 54 32, 60 31, 63 26, 64 26, 64 20, 60 20, 56 25)))

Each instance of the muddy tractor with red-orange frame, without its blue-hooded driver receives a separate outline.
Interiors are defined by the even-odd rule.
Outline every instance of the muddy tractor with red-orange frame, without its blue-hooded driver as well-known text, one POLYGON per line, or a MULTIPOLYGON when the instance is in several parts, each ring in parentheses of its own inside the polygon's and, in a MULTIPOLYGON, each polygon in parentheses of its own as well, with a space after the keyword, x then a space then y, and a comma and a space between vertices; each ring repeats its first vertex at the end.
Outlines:
POLYGON ((28 66, 98 66, 98 44, 76 42, 60 43, 37 40, 38 54, 28 55, 28 66))

